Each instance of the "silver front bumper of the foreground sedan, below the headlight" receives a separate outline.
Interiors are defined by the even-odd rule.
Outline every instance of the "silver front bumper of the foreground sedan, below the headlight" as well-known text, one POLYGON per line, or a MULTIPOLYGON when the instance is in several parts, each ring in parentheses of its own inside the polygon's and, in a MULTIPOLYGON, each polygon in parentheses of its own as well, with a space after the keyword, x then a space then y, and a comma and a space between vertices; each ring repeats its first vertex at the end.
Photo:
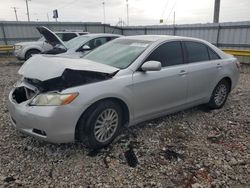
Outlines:
MULTIPOLYGON (((74 141, 77 111, 72 105, 29 106, 31 99, 17 102, 15 91, 27 87, 22 84, 9 94, 8 109, 14 127, 26 134, 52 143, 74 141)), ((20 93, 19 93, 20 94, 20 93)))

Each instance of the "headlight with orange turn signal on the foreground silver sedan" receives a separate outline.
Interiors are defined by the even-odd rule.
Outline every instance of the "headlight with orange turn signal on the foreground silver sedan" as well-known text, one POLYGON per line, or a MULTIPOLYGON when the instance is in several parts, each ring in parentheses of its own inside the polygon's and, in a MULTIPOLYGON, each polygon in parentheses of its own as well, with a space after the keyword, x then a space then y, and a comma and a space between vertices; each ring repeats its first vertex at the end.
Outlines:
POLYGON ((30 103, 31 106, 61 106, 71 103, 78 93, 45 93, 37 95, 30 103))

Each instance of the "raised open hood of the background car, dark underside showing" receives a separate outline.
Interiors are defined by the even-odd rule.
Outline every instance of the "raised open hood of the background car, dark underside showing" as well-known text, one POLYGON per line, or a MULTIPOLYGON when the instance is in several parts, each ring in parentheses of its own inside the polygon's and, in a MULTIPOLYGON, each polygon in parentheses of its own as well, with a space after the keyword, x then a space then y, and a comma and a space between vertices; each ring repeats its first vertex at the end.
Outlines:
POLYGON ((44 36, 44 38, 46 39, 46 41, 51 44, 53 47, 55 47, 56 45, 62 45, 65 49, 67 49, 67 47, 65 46, 65 43, 51 30, 49 30, 48 28, 44 27, 44 26, 39 26, 36 28, 39 33, 41 35, 44 36))

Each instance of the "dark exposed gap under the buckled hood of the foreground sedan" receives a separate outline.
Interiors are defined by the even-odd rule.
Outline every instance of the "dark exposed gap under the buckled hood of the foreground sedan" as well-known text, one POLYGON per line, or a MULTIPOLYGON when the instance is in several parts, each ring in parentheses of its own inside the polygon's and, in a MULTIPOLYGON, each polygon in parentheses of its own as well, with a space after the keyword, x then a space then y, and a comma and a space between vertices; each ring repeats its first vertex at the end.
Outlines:
POLYGON ((42 93, 61 92, 67 88, 104 81, 112 78, 117 72, 103 73, 65 69, 61 76, 44 81, 24 77, 21 81, 22 84, 14 89, 12 99, 19 104, 42 93))

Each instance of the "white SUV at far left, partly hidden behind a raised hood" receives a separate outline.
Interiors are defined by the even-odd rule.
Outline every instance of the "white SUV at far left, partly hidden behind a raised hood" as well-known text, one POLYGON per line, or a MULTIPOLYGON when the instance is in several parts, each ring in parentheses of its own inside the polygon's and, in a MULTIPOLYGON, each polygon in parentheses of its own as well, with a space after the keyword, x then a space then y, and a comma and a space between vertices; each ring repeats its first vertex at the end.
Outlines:
MULTIPOLYGON (((38 31, 39 28, 44 27, 37 27, 38 31)), ((39 31, 40 32, 40 31, 39 31)), ((69 41, 72 38, 75 38, 80 35, 86 35, 88 32, 81 32, 81 31, 61 31, 61 32, 54 32, 62 41, 69 41)), ((54 47, 53 42, 47 41, 45 37, 41 37, 37 41, 30 41, 30 42, 20 42, 14 45, 14 55, 17 59, 20 60, 27 60, 32 55, 38 54, 44 51, 48 51, 53 49, 54 47)))

